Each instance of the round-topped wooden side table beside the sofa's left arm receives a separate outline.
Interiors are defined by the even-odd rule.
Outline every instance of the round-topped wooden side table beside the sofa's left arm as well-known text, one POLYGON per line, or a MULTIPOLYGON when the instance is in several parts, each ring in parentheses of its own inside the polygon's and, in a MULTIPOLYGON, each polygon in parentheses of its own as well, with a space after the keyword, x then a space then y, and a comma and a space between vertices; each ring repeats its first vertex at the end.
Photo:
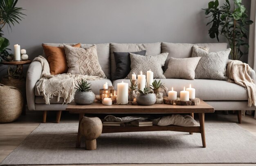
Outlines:
POLYGON ((26 81, 23 81, 24 83, 21 83, 22 80, 22 72, 23 72, 23 65, 28 65, 31 63, 31 60, 22 60, 22 61, 2 61, 0 64, 1 65, 7 65, 8 66, 8 75, 10 75, 10 66, 16 65, 16 73, 19 76, 19 79, 12 79, 9 80, 7 79, 2 79, 2 84, 8 85, 8 86, 13 86, 16 87, 22 92, 22 96, 24 99, 24 105, 22 109, 22 115, 26 114, 26 103, 27 103, 27 98, 26 98, 26 81))

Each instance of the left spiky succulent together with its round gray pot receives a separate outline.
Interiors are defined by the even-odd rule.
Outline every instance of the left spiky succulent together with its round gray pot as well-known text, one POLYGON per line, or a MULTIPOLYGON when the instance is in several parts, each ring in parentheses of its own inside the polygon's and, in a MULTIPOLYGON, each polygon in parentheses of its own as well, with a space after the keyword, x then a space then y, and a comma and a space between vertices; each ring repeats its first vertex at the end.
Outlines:
POLYGON ((94 102, 95 94, 91 91, 92 89, 90 89, 90 84, 91 83, 87 83, 87 81, 84 80, 78 81, 74 95, 74 101, 76 104, 88 105, 94 102))

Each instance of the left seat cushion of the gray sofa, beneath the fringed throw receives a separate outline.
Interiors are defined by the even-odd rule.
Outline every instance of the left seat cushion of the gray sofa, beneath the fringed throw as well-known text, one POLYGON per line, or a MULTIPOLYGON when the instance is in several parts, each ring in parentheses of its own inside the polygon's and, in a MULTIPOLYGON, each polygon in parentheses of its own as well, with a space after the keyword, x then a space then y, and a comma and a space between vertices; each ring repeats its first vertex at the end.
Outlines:
MULTIPOLYGON (((101 80, 88 80, 88 83, 91 83, 92 92, 94 94, 99 94, 99 89, 103 89, 103 85, 107 82, 108 86, 112 86, 112 82, 110 79, 101 79, 101 80)), ((35 85, 35 95, 36 96, 43 96, 42 94, 38 94, 36 87, 38 86, 39 82, 35 85)))

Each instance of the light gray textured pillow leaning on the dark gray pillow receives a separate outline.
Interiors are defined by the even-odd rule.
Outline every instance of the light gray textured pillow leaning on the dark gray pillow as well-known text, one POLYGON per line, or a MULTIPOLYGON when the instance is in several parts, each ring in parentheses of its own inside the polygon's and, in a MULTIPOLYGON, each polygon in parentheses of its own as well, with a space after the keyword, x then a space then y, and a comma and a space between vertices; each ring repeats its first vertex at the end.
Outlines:
POLYGON ((131 71, 127 78, 132 79, 133 73, 140 74, 140 71, 142 71, 143 74, 146 74, 148 70, 151 70, 154 73, 154 79, 165 79, 162 67, 164 66, 167 56, 168 52, 155 56, 143 56, 130 53, 131 71))

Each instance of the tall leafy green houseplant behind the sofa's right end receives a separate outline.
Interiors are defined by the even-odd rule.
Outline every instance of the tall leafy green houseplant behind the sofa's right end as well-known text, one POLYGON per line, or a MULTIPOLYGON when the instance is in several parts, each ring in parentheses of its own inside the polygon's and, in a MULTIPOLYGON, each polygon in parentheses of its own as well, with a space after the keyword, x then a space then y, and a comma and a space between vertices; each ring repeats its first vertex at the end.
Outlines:
MULTIPOLYGON (((246 26, 253 23, 248 20, 247 10, 242 5, 242 0, 226 0, 223 6, 219 6, 218 0, 208 3, 208 8, 203 9, 205 15, 213 19, 207 23, 210 24, 209 35, 219 41, 219 35, 227 38, 231 48, 231 58, 240 59, 244 54, 248 53, 249 44, 245 42, 247 39, 246 26)), ((207 17, 207 18, 208 18, 207 17)))

